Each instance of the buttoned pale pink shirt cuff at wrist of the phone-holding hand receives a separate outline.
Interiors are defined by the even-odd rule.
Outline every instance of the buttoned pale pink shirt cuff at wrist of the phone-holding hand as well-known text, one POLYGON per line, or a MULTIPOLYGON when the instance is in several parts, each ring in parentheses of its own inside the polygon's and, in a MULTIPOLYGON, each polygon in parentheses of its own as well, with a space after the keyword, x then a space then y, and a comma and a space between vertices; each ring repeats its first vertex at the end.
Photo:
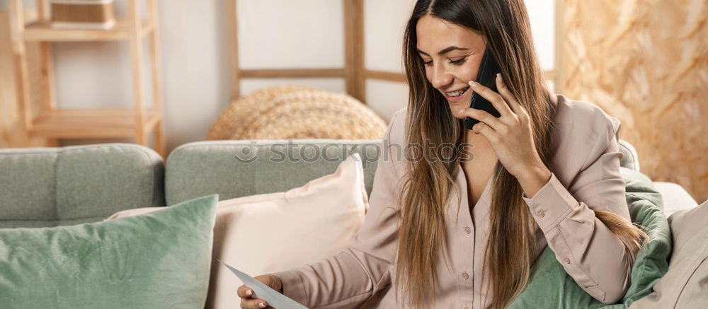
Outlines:
POLYGON ((555 228, 578 205, 578 200, 554 173, 551 173, 551 179, 532 198, 528 198, 526 193, 522 197, 544 234, 555 228))

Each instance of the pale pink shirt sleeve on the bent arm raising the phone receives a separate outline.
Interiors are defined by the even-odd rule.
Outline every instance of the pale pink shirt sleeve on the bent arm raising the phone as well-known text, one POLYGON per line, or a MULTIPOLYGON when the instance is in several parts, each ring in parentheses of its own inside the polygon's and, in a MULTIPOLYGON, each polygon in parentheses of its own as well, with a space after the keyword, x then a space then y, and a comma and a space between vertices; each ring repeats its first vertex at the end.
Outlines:
POLYGON ((552 173, 532 198, 523 195, 556 259, 583 290, 605 304, 624 296, 634 263, 624 243, 593 211, 611 211, 631 220, 619 170, 619 120, 611 122, 609 141, 595 139, 599 141, 569 189, 552 173))

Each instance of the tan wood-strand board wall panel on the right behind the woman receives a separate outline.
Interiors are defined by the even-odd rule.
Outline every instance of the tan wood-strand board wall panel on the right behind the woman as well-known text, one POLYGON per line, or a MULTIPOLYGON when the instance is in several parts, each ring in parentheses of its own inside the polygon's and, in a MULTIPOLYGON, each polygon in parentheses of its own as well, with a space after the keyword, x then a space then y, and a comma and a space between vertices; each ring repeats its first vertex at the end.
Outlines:
POLYGON ((708 0, 564 0, 563 93, 622 120, 655 181, 708 199, 708 0))

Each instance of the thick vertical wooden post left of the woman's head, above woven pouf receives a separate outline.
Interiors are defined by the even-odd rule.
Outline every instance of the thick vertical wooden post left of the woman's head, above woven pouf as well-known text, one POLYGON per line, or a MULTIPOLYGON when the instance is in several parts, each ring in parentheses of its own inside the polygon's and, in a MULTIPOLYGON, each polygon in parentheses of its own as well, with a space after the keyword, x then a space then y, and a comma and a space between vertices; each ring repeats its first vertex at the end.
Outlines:
POLYGON ((366 102, 364 81, 364 1, 344 1, 344 69, 348 95, 366 102))

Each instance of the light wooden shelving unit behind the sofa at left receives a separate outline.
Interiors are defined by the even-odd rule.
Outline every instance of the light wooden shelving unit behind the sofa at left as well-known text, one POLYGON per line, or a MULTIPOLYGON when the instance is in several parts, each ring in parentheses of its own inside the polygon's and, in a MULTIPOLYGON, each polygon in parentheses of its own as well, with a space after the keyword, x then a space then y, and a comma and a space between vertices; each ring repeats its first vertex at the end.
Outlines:
POLYGON ((135 138, 147 146, 147 135, 154 130, 155 150, 165 157, 162 117, 161 81, 159 78, 159 46, 156 0, 146 1, 146 16, 140 17, 139 0, 127 0, 127 17, 116 21, 108 30, 55 29, 50 26, 47 0, 37 0, 38 21, 25 23, 22 0, 9 1, 13 62, 18 103, 23 119, 25 145, 32 137, 56 139, 135 138), (142 40, 148 38, 152 71, 152 107, 144 107, 142 40), (54 95, 51 42, 128 41, 132 60, 133 107, 126 109, 57 109, 54 95), (37 117, 33 117, 30 99, 27 42, 39 42, 40 66, 46 101, 37 117))

